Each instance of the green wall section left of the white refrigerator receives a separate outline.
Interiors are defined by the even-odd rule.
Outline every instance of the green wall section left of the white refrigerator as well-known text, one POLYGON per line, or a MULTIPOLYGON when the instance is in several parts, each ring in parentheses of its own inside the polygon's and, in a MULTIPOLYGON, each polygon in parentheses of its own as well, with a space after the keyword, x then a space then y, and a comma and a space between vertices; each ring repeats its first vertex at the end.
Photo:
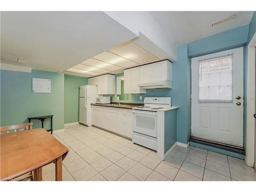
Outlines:
POLYGON ((87 84, 87 78, 64 76, 64 100, 65 100, 65 124, 78 121, 79 110, 79 86, 87 84))

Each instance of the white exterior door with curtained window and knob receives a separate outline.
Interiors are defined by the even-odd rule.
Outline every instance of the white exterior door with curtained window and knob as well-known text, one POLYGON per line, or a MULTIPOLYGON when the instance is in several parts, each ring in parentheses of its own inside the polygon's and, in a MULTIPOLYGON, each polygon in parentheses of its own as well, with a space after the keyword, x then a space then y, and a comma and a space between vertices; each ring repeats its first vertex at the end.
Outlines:
POLYGON ((243 48, 191 59, 191 136, 243 146, 243 48))

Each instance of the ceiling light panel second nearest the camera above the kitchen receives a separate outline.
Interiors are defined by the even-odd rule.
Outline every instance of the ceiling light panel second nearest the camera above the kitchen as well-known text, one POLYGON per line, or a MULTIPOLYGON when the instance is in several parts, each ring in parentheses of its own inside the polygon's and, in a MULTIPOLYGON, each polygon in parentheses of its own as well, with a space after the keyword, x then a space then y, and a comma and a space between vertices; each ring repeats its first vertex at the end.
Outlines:
POLYGON ((117 65, 117 66, 120 66, 123 68, 132 67, 137 64, 136 62, 130 61, 128 59, 125 59, 123 57, 120 57, 118 55, 110 53, 108 51, 100 53, 93 58, 104 61, 104 62, 111 63, 113 65, 117 65))

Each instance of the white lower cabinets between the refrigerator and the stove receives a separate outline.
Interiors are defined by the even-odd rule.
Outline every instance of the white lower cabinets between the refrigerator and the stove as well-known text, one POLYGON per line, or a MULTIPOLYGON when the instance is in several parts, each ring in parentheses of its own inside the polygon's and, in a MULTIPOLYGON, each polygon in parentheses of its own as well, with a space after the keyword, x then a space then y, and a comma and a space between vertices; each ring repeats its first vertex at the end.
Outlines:
POLYGON ((92 105, 92 124, 114 133, 132 138, 132 110, 114 109, 106 106, 92 105))

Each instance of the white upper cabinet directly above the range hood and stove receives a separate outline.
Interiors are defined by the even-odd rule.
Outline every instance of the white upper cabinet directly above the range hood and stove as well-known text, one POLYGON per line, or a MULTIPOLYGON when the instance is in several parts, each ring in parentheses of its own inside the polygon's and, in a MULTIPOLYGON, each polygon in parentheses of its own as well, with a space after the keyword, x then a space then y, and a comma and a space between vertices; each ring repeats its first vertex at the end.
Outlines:
POLYGON ((172 81, 172 62, 163 60, 140 66, 140 83, 169 80, 172 81))

